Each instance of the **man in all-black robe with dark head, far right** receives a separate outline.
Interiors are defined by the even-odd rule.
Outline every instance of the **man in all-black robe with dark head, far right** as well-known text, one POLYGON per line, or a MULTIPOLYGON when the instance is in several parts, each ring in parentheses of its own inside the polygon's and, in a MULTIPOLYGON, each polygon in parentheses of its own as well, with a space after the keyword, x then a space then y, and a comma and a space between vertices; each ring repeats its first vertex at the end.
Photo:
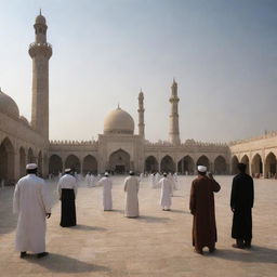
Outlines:
POLYGON ((230 209, 233 215, 232 237, 234 248, 251 248, 252 208, 254 203, 253 179, 246 173, 247 166, 238 163, 239 173, 233 179, 230 209))

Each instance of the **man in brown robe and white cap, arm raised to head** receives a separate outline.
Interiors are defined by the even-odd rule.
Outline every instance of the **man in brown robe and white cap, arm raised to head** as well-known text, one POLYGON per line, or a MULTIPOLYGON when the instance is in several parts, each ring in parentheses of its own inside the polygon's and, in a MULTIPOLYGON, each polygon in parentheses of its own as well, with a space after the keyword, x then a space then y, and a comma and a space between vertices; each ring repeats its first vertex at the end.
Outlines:
POLYGON ((208 247, 210 252, 215 250, 217 237, 213 193, 217 193, 221 186, 211 173, 206 175, 206 167, 198 166, 197 171, 198 177, 192 184, 189 209, 194 215, 193 246, 197 253, 203 254, 203 247, 208 247))

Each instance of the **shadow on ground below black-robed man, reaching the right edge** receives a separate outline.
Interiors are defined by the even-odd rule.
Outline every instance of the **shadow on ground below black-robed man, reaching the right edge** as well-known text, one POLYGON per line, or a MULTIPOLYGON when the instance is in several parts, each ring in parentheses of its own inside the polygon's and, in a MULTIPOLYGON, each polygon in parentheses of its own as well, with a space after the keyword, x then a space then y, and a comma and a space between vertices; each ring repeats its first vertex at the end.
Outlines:
POLYGON ((277 264, 277 250, 253 246, 248 250, 222 249, 214 253, 216 258, 239 261, 242 263, 273 263, 277 264))

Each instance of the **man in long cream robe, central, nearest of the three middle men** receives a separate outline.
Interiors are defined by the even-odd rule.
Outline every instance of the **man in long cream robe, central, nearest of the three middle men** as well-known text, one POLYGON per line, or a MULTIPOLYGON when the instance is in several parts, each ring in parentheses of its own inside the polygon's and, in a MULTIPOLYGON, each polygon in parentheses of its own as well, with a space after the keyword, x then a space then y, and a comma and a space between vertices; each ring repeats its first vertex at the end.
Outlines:
POLYGON ((137 217, 138 216, 138 189, 140 182, 134 172, 130 171, 130 176, 124 180, 124 192, 126 192, 126 207, 124 215, 127 217, 137 217))

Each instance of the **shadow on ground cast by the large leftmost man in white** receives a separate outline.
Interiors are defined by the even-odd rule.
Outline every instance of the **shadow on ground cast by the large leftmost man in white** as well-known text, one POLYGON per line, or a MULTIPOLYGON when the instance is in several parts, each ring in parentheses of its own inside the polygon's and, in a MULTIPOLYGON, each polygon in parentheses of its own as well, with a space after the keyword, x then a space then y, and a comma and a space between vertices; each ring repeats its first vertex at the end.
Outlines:
POLYGON ((109 272, 109 268, 102 265, 85 263, 74 258, 50 253, 48 256, 37 259, 36 255, 28 255, 26 261, 48 268, 56 273, 90 273, 90 272, 109 272))

